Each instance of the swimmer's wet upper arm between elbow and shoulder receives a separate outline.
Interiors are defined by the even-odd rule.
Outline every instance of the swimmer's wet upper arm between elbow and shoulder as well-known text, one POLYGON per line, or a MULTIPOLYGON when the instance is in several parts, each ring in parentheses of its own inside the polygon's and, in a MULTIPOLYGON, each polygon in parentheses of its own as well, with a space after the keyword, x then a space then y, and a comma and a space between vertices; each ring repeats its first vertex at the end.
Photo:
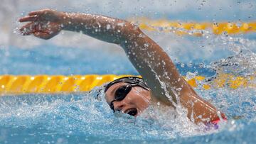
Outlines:
POLYGON ((139 28, 130 29, 133 29, 134 37, 127 38, 127 43, 122 45, 129 60, 149 85, 153 95, 165 104, 175 106, 183 87, 183 78, 169 55, 154 40, 139 28))

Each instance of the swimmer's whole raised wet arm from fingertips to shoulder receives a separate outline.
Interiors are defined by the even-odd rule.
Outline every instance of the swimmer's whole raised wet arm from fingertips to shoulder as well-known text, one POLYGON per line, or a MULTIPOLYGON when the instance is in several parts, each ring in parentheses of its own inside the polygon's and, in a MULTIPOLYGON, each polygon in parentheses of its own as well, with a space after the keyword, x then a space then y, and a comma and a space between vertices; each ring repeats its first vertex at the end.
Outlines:
MULTIPOLYGON (((121 45, 154 96, 176 106, 178 100, 196 123, 218 119, 215 107, 199 97, 176 70, 169 55, 137 26, 127 21, 83 13, 62 13, 49 9, 34 11, 20 21, 23 35, 52 38, 61 30, 82 32, 93 38, 121 45), (170 102, 169 99, 172 101, 170 102)), ((223 117, 224 114, 220 113, 223 117)))

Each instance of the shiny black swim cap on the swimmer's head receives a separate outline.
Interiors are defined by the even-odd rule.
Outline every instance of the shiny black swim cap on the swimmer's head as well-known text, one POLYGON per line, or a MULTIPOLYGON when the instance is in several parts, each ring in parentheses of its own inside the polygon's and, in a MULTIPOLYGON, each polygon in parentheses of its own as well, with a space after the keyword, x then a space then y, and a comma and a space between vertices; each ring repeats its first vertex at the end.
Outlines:
POLYGON ((146 89, 146 90, 150 90, 149 86, 147 86, 146 82, 144 82, 144 80, 140 77, 121 77, 119 79, 115 79, 114 81, 110 82, 109 84, 107 84, 105 86, 105 91, 107 92, 107 89, 109 89, 112 85, 117 84, 119 82, 125 82, 128 84, 137 84, 138 86, 146 89))

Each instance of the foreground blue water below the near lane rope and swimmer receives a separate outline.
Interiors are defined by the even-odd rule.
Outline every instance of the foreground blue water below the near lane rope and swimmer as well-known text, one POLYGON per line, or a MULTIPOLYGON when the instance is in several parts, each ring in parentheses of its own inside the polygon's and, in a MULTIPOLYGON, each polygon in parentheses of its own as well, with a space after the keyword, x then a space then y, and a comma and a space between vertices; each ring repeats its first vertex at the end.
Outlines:
MULTIPOLYGON (((210 96, 214 97, 217 92, 210 93, 210 96)), ((248 95, 253 97, 251 94, 248 95)), ((231 107, 233 105, 236 108, 224 107, 229 109, 225 111, 228 115, 244 116, 242 119, 229 120, 218 131, 187 133, 190 135, 188 137, 182 133, 187 130, 177 131, 170 126, 164 126, 169 121, 161 123, 148 118, 135 120, 130 116, 116 117, 105 102, 96 100, 86 93, 3 96, 0 101, 1 143, 252 143, 255 141, 253 137, 256 126, 253 120, 255 110, 249 107, 243 109, 243 104, 240 102, 236 104, 230 102, 231 107), (242 111, 239 109, 236 111, 239 107, 242 111)))

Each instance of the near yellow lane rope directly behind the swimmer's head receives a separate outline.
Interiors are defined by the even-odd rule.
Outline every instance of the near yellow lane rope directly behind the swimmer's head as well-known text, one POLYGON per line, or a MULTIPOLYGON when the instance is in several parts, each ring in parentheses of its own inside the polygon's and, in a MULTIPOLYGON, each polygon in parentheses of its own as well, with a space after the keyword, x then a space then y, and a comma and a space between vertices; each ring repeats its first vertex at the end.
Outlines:
MULTIPOLYGON (((131 75, 0 75, 0 95, 29 94, 29 93, 58 93, 58 92, 86 92, 106 82, 119 77, 131 75)), ((235 77, 230 74, 221 74, 211 82, 204 82, 206 77, 196 76, 192 79, 184 77, 192 87, 210 89, 213 87, 256 87, 252 84, 254 77, 235 77)))

